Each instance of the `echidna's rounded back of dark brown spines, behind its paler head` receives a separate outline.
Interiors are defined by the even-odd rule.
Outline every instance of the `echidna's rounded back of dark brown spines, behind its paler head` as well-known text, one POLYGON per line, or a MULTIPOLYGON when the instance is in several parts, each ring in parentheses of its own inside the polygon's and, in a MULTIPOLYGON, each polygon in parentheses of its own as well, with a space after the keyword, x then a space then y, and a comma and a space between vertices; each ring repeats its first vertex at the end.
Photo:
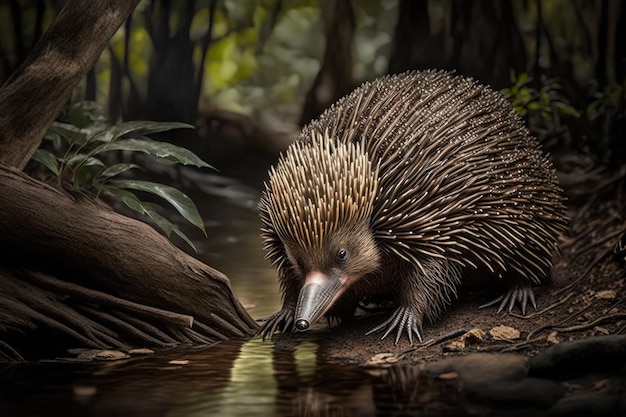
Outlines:
POLYGON ((539 283, 566 220, 553 168, 510 104, 471 79, 409 72, 366 83, 300 141, 359 143, 378 169, 370 224, 420 267, 440 257, 539 283))

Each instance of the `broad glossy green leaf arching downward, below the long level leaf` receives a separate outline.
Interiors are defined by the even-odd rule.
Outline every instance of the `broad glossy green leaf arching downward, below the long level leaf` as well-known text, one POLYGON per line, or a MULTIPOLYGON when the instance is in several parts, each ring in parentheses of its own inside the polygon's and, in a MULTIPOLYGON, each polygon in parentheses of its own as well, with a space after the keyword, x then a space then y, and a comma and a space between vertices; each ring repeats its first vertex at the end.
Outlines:
POLYGON ((202 230, 206 235, 204 222, 202 221, 202 217, 200 217, 200 213, 198 212, 196 205, 182 191, 168 185, 157 184, 149 181, 114 180, 111 181, 110 184, 118 188, 144 191, 158 195, 174 206, 181 216, 187 219, 189 223, 202 230))

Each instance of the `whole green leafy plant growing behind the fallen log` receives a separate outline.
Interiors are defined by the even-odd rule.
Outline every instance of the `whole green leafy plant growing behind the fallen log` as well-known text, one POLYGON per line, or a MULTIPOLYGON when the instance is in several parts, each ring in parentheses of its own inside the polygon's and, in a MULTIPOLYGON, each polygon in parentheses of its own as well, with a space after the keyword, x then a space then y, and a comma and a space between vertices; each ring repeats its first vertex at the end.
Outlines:
POLYGON ((33 160, 49 169, 57 177, 60 186, 69 187, 76 193, 94 199, 103 191, 117 197, 126 206, 150 217, 168 238, 174 233, 196 250, 178 226, 159 214, 160 206, 141 201, 134 191, 152 193, 163 198, 206 235, 204 222, 193 201, 180 190, 168 185, 119 179, 120 174, 141 167, 134 163, 110 162, 118 160, 110 158, 111 153, 140 152, 154 159, 212 168, 185 148, 154 141, 145 136, 193 126, 151 121, 130 121, 111 126, 97 117, 83 121, 83 126, 55 122, 45 135, 45 139, 52 142, 55 152, 40 148, 35 151, 33 160))

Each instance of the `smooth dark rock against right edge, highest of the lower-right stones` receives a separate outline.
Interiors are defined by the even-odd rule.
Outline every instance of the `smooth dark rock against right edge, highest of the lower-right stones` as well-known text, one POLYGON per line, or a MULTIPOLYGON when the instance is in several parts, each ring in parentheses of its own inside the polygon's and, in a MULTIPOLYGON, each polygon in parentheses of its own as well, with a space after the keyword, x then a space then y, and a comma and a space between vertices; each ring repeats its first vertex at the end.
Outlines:
POLYGON ((626 336, 598 336, 550 346, 528 361, 534 377, 567 378, 619 371, 626 364, 626 336))

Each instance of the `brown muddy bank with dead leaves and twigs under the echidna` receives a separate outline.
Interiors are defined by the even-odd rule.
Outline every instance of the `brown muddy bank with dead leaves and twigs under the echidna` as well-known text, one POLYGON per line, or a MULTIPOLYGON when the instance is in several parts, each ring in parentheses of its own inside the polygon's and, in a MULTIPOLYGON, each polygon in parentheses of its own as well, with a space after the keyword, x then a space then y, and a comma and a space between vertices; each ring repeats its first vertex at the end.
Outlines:
MULTIPOLYGON (((306 333, 276 335, 278 347, 295 348, 303 340, 319 343, 318 354, 360 365, 434 361, 470 352, 531 356, 557 343, 591 336, 626 334, 626 232, 624 202, 614 198, 570 211, 570 233, 562 238, 552 282, 537 287, 537 309, 526 315, 497 314, 479 306, 499 295, 483 285, 463 288, 440 320, 426 323, 423 343, 410 345, 406 335, 365 335, 385 319, 367 314, 349 325, 320 323, 306 333), (623 251, 616 253, 616 242, 623 251)), ((619 249, 619 248, 618 248, 619 249)), ((500 291, 503 291, 500 289, 500 291)), ((503 292, 502 292, 503 293, 503 292)), ((387 314, 387 313, 385 313, 387 314)))

